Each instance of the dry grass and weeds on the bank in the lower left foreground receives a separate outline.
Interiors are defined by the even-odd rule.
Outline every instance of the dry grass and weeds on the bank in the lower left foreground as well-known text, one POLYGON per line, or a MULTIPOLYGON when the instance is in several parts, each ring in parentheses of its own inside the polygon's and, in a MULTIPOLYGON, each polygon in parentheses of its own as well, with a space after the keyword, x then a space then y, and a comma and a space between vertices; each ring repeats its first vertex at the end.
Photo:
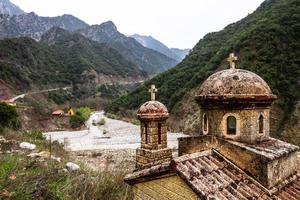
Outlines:
MULTIPOLYGON (((6 139, 37 144, 47 150, 49 142, 39 133, 8 131, 6 139)), ((62 157, 62 162, 41 161, 26 154, 0 154, 0 199, 132 199, 130 187, 123 182, 126 172, 94 172, 85 166, 75 173, 63 172, 68 153, 61 145, 52 143, 52 152, 62 157)))

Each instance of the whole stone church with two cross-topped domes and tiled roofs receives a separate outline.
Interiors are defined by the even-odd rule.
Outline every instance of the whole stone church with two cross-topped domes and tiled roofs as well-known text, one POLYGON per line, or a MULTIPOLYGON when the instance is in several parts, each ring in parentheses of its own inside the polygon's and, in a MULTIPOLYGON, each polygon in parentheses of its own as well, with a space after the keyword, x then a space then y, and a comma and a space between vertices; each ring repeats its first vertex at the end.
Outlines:
POLYGON ((178 157, 167 147, 168 110, 151 86, 151 101, 137 111, 136 170, 125 177, 135 199, 300 199, 298 147, 269 136, 276 96, 236 60, 230 54, 230 69, 196 93, 199 135, 178 139, 178 157))

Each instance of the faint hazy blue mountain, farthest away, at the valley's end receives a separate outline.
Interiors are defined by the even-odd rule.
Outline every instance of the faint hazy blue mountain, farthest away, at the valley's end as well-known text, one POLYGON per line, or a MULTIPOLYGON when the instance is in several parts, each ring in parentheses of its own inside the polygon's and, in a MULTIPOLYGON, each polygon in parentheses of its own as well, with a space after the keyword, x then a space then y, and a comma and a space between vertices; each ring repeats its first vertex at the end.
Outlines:
POLYGON ((174 53, 172 50, 170 50, 166 45, 164 45, 163 43, 154 39, 151 36, 143 36, 143 35, 134 34, 134 35, 131 35, 130 37, 134 38, 136 41, 138 41, 144 47, 158 51, 170 58, 173 58, 174 60, 177 60, 178 62, 180 62, 182 60, 180 56, 178 56, 176 53, 174 53))

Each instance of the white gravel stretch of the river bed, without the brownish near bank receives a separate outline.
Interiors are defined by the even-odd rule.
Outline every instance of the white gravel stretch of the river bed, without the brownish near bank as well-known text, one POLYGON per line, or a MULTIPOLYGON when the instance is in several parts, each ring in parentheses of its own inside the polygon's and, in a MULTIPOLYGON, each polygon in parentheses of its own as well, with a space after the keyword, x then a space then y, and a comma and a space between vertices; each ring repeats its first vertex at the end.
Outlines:
MULTIPOLYGON (((104 149, 136 149, 140 146, 140 128, 128 122, 110 119, 104 116, 103 111, 93 112, 86 122, 87 130, 59 131, 44 133, 47 139, 57 140, 65 144, 69 151, 104 150, 104 149), (94 122, 105 119, 102 126, 93 125, 94 122), (103 134, 106 130, 106 134, 103 134)), ((178 148, 178 137, 182 133, 168 133, 168 147, 178 148)))

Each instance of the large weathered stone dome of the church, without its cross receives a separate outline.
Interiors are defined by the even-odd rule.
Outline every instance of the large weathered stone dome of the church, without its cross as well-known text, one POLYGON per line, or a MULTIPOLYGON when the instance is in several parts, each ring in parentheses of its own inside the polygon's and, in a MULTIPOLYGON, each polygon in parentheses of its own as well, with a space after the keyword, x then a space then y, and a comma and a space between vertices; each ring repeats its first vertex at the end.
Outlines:
POLYGON ((257 74, 243 69, 226 69, 211 75, 196 93, 198 101, 273 101, 276 96, 257 74))

